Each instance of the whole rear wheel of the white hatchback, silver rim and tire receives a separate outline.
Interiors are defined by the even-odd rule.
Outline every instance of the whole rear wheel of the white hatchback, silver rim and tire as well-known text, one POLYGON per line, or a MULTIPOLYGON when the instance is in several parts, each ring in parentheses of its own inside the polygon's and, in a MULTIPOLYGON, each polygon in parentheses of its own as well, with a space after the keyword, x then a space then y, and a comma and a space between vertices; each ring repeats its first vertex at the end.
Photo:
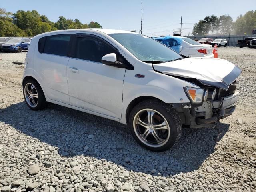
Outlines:
POLYGON ((32 110, 40 110, 46 106, 44 92, 38 82, 33 79, 25 80, 23 83, 23 96, 26 104, 32 110))

